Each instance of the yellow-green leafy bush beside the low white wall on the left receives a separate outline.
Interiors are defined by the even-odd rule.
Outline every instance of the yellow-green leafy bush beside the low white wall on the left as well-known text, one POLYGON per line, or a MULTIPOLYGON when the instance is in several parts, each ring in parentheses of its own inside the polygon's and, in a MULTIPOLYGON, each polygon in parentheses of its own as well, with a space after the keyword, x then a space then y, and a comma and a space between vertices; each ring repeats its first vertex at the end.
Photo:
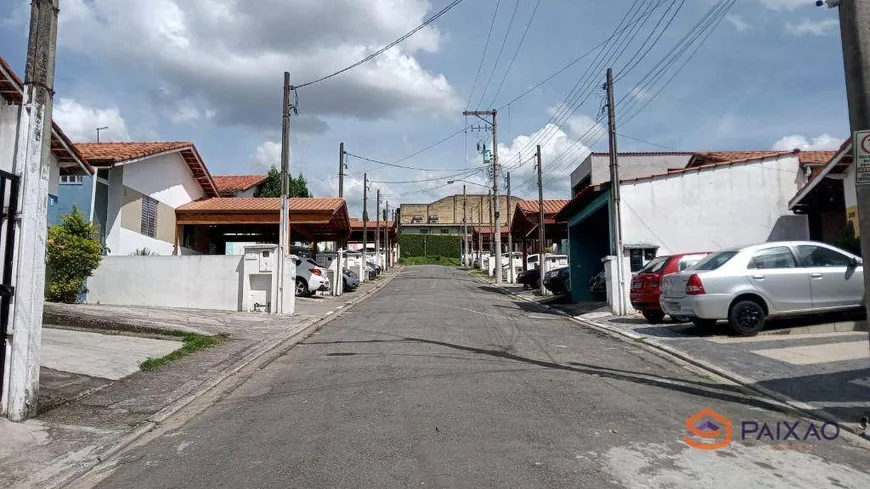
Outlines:
POLYGON ((103 258, 97 228, 76 207, 61 217, 63 224, 48 228, 45 298, 72 304, 86 292, 90 277, 103 258))

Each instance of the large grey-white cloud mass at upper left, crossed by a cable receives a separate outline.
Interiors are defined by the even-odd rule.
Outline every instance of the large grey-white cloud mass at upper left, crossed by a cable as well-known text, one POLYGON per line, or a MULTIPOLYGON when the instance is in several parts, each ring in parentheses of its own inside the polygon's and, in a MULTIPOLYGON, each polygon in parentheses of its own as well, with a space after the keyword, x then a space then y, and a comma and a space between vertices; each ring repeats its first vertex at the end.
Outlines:
MULTIPOLYGON (((216 122, 271 126, 282 72, 300 84, 343 68, 419 24, 428 0, 65 0, 59 43, 155 73, 178 100, 195 97, 216 122)), ((414 57, 439 48, 427 27, 353 72, 298 90, 296 129, 323 131, 320 117, 362 119, 400 112, 455 114, 447 79, 414 57)))

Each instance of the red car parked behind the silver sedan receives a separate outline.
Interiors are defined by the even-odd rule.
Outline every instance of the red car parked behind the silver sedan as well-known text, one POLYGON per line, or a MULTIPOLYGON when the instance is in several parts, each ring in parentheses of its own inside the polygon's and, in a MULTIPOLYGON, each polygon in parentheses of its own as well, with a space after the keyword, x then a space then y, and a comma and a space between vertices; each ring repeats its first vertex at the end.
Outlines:
POLYGON ((684 253, 681 255, 653 258, 631 279, 631 307, 643 314, 650 324, 661 322, 665 313, 659 305, 662 277, 681 272, 701 261, 709 252, 684 253))

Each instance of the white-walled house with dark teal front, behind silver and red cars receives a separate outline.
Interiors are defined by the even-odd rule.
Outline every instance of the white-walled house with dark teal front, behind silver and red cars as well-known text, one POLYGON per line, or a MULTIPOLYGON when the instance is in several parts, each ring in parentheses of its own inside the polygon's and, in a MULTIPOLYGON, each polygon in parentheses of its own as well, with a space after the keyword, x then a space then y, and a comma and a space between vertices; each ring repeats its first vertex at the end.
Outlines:
MULTIPOLYGON (((807 181, 807 166, 824 157, 797 150, 696 153, 684 168, 649 163, 659 171, 646 175, 622 172, 620 158, 626 273, 656 255, 808 238, 807 219, 789 210, 789 200, 807 181)), ((586 284, 615 250, 609 176, 580 176, 579 182, 555 216, 568 225, 575 301, 591 299, 586 284)))

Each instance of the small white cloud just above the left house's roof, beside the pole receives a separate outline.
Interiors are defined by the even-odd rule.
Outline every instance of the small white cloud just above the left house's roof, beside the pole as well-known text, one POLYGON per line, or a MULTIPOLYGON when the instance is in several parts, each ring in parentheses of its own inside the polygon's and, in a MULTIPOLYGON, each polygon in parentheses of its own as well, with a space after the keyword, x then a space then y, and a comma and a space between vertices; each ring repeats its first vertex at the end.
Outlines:
POLYGON ((80 104, 68 98, 58 99, 54 104, 53 119, 73 142, 96 141, 97 128, 101 141, 129 141, 127 124, 117 107, 96 108, 80 104))

